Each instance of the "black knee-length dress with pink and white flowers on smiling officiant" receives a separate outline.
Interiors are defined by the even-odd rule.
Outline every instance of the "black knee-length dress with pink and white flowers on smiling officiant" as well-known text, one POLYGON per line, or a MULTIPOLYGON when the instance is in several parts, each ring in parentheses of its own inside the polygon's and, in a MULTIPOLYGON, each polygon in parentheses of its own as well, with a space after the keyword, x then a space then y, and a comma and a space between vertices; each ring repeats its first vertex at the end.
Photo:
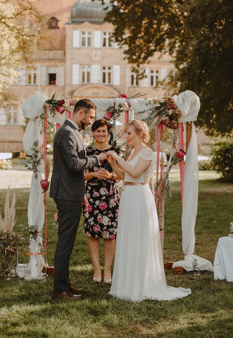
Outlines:
MULTIPOLYGON (((98 150, 91 146, 86 149, 87 156, 99 155, 108 150, 114 150, 122 157, 122 151, 117 147, 109 146, 109 149, 98 150)), ((88 169, 88 172, 101 169, 113 172, 107 160, 98 167, 88 169)), ((93 177, 86 183, 86 197, 89 205, 87 208, 83 207, 83 232, 91 237, 115 239, 120 200, 116 180, 93 177)))

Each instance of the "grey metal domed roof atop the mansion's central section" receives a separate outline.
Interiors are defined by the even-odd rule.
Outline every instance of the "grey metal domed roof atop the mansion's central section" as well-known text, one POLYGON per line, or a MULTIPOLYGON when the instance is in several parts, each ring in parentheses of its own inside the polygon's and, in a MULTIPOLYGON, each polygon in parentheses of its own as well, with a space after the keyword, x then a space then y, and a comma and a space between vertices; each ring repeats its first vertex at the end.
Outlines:
POLYGON ((100 0, 78 0, 71 8, 71 22, 81 23, 88 21, 102 23, 107 13, 104 8, 109 6, 109 4, 109 0, 105 1, 104 5, 102 5, 102 1, 100 0))

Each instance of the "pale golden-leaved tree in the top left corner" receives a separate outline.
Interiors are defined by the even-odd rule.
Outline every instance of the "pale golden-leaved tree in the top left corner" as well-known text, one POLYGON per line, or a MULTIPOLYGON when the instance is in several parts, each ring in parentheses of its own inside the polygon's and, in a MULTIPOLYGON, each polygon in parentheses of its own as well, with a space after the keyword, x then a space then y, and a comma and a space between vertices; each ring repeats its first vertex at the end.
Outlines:
MULTIPOLYGON (((9 99, 7 88, 19 70, 32 64, 37 40, 45 36, 45 22, 35 0, 0 0, 0 100, 9 99)), ((12 97, 11 97, 12 98, 12 97)))

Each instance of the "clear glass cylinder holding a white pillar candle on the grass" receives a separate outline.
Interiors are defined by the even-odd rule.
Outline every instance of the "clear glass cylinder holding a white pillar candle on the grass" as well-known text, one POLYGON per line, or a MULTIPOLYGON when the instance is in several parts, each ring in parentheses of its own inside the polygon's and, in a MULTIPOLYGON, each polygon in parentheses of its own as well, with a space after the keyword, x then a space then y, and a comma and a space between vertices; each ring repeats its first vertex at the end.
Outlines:
POLYGON ((45 281, 47 273, 47 249, 24 249, 24 279, 27 282, 45 281))

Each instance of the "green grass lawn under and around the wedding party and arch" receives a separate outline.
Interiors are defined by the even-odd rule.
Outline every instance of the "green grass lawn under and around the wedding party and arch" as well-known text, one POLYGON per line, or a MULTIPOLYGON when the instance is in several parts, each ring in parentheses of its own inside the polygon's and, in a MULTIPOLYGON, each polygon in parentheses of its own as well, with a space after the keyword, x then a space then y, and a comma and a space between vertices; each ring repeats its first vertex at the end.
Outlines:
MULTIPOLYGON (((165 214, 165 263, 183 259, 178 171, 172 171, 170 176, 173 202, 168 201, 165 214)), ((19 231, 19 224, 27 222, 29 188, 12 189, 11 194, 13 191, 18 218, 14 230, 19 231)), ((5 189, 0 190, 1 211, 5 194, 5 189)), ((212 263, 219 237, 229 233, 232 205, 233 185, 221 183, 213 171, 201 171, 195 250, 212 263)), ((56 206, 50 198, 48 209, 51 241, 47 259, 53 265, 56 236, 52 226, 56 206)), ((103 265, 102 242, 101 245, 103 265)), ((22 256, 19 259, 22 262, 22 256)), ((161 302, 114 299, 108 294, 109 285, 92 282, 93 267, 81 220, 70 260, 70 277, 75 287, 86 288, 85 299, 51 300, 53 277, 45 283, 0 280, 0 337, 233 337, 233 283, 214 281, 212 272, 197 277, 191 272, 165 273, 168 285, 191 288, 192 294, 161 302)))

